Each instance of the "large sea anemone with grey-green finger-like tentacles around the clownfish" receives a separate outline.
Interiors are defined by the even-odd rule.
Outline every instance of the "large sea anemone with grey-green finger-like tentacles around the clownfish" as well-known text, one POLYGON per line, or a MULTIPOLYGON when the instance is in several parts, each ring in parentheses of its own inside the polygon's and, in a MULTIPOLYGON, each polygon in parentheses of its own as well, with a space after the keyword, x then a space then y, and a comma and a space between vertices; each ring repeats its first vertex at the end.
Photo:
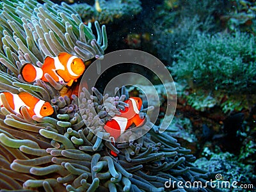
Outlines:
MULTIPOLYGON (((67 4, 45 1, 7 1, 0 4, 2 41, 0 88, 8 92, 29 92, 51 102, 54 114, 29 116, 25 107, 16 114, 5 101, 0 113, 1 191, 168 191, 164 184, 195 180, 206 182, 207 173, 190 164, 195 157, 180 147, 172 130, 159 134, 159 127, 145 116, 141 130, 147 134, 113 145, 104 123, 125 107, 125 88, 116 95, 93 94, 83 87, 79 95, 61 95, 65 86, 51 76, 29 84, 19 70, 24 63, 42 66, 45 56, 69 52, 83 59, 100 58, 107 47, 105 27, 95 22, 97 40, 67 4), (113 151, 117 157, 111 156, 113 151)), ((142 111, 141 111, 142 112, 142 111)), ((197 191, 199 188, 185 188, 197 191)), ((177 189, 178 190, 178 189, 177 189)))

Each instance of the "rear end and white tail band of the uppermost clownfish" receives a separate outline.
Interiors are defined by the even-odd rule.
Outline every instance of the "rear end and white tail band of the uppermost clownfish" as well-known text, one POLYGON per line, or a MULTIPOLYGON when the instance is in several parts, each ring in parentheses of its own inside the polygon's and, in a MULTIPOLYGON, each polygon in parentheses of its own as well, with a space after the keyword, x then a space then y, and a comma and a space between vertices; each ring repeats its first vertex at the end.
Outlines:
POLYGON ((20 69, 20 75, 29 83, 36 81, 36 79, 41 79, 43 77, 43 70, 40 67, 35 67, 31 63, 26 63, 20 69))

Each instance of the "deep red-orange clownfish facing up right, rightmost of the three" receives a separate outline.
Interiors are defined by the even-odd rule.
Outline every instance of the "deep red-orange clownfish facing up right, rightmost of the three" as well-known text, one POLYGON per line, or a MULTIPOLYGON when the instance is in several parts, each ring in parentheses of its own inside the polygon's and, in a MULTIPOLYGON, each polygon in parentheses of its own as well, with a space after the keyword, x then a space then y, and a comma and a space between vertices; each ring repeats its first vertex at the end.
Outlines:
POLYGON ((120 110, 120 115, 114 116, 112 120, 106 122, 104 125, 104 129, 109 132, 110 136, 114 138, 114 141, 132 124, 138 127, 144 123, 144 119, 141 119, 139 116, 142 106, 140 97, 130 97, 125 100, 125 103, 129 104, 129 107, 120 110))

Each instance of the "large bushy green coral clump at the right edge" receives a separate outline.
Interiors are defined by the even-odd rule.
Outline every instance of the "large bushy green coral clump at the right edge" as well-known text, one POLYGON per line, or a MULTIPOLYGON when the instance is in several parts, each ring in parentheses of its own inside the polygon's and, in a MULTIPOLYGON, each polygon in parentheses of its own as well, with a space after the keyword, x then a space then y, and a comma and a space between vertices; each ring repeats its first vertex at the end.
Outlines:
POLYGON ((190 90, 185 97, 196 109, 216 104, 225 112, 250 109, 255 99, 255 51, 254 37, 245 33, 202 34, 177 55, 170 70, 178 80, 186 79, 190 90))

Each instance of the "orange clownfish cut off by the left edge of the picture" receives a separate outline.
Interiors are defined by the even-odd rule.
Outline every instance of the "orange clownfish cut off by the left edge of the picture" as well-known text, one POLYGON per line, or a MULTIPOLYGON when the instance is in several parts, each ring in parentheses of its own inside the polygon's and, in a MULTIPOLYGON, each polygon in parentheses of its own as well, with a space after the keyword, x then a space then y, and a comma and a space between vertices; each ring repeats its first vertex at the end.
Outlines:
MULTIPOLYGON (((20 113, 21 107, 26 107, 29 115, 32 117, 33 115, 44 117, 52 115, 54 112, 51 104, 49 102, 45 102, 44 100, 38 99, 27 92, 19 92, 18 94, 13 94, 10 92, 1 92, 5 95, 6 100, 10 106, 16 113, 20 113)), ((3 107, 3 100, 0 97, 0 106, 3 107)))

